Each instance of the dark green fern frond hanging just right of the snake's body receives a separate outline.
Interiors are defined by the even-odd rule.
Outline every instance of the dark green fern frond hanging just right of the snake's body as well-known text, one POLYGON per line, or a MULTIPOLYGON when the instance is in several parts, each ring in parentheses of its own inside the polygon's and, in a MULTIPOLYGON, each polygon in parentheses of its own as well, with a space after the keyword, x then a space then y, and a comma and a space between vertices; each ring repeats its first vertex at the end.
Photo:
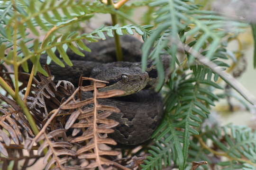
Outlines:
POLYGON ((174 162, 183 170, 189 154, 190 137, 199 135, 199 127, 203 119, 210 113, 218 97, 208 88, 222 89, 213 82, 212 72, 203 66, 193 66, 194 74, 184 76, 178 85, 166 93, 165 119, 157 128, 153 137, 156 141, 165 138, 164 142, 174 142, 174 162), (183 145, 183 147, 181 147, 183 145))

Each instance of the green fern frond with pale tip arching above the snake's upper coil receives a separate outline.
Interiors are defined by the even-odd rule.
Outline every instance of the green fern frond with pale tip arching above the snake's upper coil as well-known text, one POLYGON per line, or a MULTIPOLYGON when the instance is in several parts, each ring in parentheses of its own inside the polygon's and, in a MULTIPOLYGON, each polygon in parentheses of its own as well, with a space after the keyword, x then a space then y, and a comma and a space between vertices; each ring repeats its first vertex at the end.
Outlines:
MULTIPOLYGON (((68 23, 69 24, 69 23, 68 23)), ((66 33, 66 34, 60 34, 58 36, 55 36, 54 34, 50 34, 42 43, 34 41, 31 42, 31 39, 26 39, 23 41, 21 40, 18 43, 18 52, 21 52, 19 54, 19 60, 18 64, 21 64, 25 71, 28 71, 27 68, 27 59, 31 59, 31 61, 36 65, 35 68, 35 74, 37 71, 40 71, 42 74, 46 75, 46 72, 41 67, 41 64, 39 63, 39 59, 35 58, 36 56, 40 55, 44 51, 48 54, 51 60, 53 60, 56 64, 64 67, 64 63, 57 58, 55 55, 55 50, 57 50, 60 53, 60 56, 64 59, 64 62, 72 66, 72 62, 69 59, 69 57, 66 54, 66 47, 69 47, 74 53, 84 56, 84 54, 77 49, 79 47, 81 50, 84 51, 91 51, 85 44, 82 42, 82 40, 87 40, 89 42, 96 42, 98 39, 106 39, 106 35, 113 37, 113 32, 116 32, 119 35, 123 34, 130 34, 133 35, 134 32, 137 32, 140 35, 148 34, 147 29, 151 26, 135 26, 135 25, 128 25, 128 26, 103 26, 100 27, 97 30, 94 30, 92 33, 89 34, 78 34, 78 33, 66 33), (58 41, 61 40, 61 41, 58 41), (28 43, 27 43, 28 42, 28 43), (76 43, 77 47, 73 45, 73 42, 76 43), (37 45, 35 45, 37 44, 37 45), (40 48, 38 45, 40 44, 40 48), (38 68, 38 70, 37 70, 38 68)), ((7 48, 5 46, 5 48, 7 48)), ((11 53, 9 53, 11 55, 11 53)), ((3 57, 4 61, 9 63, 11 61, 10 56, 3 57)))

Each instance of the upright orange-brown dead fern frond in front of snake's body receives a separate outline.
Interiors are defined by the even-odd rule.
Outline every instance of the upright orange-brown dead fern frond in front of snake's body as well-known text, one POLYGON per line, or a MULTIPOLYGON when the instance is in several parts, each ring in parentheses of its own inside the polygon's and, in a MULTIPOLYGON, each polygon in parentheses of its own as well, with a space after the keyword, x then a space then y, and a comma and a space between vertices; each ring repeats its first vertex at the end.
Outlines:
MULTIPOLYGON (((116 142, 113 139, 107 138, 108 133, 114 132, 112 127, 118 125, 118 122, 115 120, 107 119, 112 112, 120 112, 118 108, 112 106, 103 106, 98 104, 97 99, 102 98, 110 98, 113 96, 123 94, 122 91, 119 90, 111 90, 106 92, 98 92, 97 88, 102 88, 105 86, 103 81, 99 81, 93 78, 83 79, 91 80, 93 85, 82 87, 81 90, 83 92, 88 92, 93 90, 93 97, 88 98, 82 102, 74 102, 71 101, 63 106, 64 109, 77 109, 73 112, 73 114, 68 119, 65 128, 68 129, 70 127, 73 128, 83 128, 83 133, 81 136, 74 137, 70 139, 71 143, 80 143, 83 141, 87 141, 85 146, 80 147, 77 150, 78 157, 80 159, 92 159, 89 165, 85 168, 102 168, 102 164, 105 165, 113 165, 114 162, 104 159, 102 155, 111 155, 116 156, 119 155, 118 151, 111 150, 103 150, 100 148, 100 144, 112 144, 115 145, 116 142), (86 105, 93 104, 93 107, 86 107, 84 109, 80 109, 80 105, 83 103, 86 105), (78 123, 74 123, 75 119, 80 119, 78 123)), ((83 164, 82 164, 83 166, 83 164)))

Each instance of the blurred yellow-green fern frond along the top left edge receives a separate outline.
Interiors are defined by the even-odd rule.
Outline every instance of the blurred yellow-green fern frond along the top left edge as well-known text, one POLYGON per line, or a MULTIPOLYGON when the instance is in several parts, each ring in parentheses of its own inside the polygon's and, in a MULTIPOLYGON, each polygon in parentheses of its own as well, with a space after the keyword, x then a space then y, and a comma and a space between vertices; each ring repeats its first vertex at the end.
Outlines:
MULTIPOLYGON (((36 26, 39 26, 45 31, 49 31, 55 26, 73 21, 82 21, 89 19, 90 14, 95 12, 101 13, 113 13, 110 6, 106 6, 99 2, 90 2, 82 0, 64 0, 58 2, 56 0, 46 0, 42 3, 37 3, 35 0, 29 0, 26 5, 20 7, 22 10, 26 10, 27 13, 15 12, 10 19, 9 23, 15 23, 18 26, 19 34, 25 36, 26 28, 29 28, 33 34, 39 36, 39 31, 36 26), (86 8, 83 8, 86 7, 86 8), (24 9, 23 9, 24 8, 24 9)), ((10 2, 11 3, 11 2, 10 2)), ((17 4, 15 4, 16 6, 17 4)), ((12 25, 8 25, 5 29, 11 29, 12 25)))

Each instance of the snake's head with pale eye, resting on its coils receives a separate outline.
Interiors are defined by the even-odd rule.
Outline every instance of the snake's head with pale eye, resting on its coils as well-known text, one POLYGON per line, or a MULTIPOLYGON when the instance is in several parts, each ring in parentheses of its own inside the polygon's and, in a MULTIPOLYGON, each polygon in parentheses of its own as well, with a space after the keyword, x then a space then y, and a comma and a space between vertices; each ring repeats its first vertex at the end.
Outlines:
POLYGON ((139 92, 146 87, 149 80, 148 73, 142 72, 140 68, 104 66, 93 68, 91 77, 109 82, 100 91, 122 90, 125 91, 124 95, 139 92))

